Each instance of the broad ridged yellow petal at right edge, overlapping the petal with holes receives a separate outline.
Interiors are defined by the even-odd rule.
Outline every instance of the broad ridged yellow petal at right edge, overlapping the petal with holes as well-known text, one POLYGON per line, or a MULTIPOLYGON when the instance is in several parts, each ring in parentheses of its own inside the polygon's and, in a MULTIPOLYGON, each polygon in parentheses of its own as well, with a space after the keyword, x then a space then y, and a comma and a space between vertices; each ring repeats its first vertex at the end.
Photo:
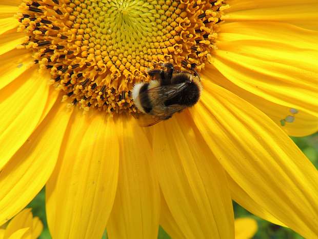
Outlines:
POLYGON ((226 78, 268 101, 318 117, 318 32, 258 22, 224 24, 220 30, 225 33, 212 64, 226 78))

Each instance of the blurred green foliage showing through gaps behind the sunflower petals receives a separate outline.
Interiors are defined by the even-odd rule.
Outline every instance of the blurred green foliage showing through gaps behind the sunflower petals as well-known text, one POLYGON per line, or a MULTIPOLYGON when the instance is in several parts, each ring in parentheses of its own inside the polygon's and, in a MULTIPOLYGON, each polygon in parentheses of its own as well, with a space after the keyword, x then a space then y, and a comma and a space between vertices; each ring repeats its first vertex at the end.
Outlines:
MULTIPOLYGON (((304 154, 314 163, 318 168, 318 133, 315 135, 303 137, 303 138, 292 138, 293 141, 299 146, 304 154)), ((45 190, 43 189, 28 205, 32 208, 34 215, 41 218, 44 224, 44 230, 41 234, 41 239, 50 239, 50 233, 48 230, 46 217, 45 217, 45 190)), ((250 216, 257 220, 259 225, 259 231, 253 239, 303 239, 302 236, 293 232, 288 228, 277 226, 256 217, 242 208, 240 205, 233 203, 235 217, 250 216)), ((132 236, 133 238, 133 236, 132 236)), ((103 239, 108 239, 107 233, 103 235, 103 239)), ((169 235, 162 229, 159 229, 158 239, 170 239, 169 235)))

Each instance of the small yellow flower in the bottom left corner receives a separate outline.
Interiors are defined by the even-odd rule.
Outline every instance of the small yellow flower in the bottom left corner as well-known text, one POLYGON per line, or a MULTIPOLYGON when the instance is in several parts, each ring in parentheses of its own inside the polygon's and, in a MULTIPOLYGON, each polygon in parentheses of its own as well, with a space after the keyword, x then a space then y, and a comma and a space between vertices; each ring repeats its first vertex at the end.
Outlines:
MULTIPOLYGON (((241 226, 243 230, 244 225, 241 226)), ((10 220, 5 229, 0 228, 0 239, 36 239, 43 230, 38 217, 33 217, 31 209, 24 209, 10 220)))

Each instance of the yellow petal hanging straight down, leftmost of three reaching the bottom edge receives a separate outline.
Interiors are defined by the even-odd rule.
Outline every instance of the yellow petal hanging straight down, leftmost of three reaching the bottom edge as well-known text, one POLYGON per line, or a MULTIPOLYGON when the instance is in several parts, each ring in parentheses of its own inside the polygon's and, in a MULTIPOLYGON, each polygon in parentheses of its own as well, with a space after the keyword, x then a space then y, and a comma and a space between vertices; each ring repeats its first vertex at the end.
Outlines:
POLYGON ((53 239, 102 238, 117 186, 116 133, 109 115, 74 110, 46 187, 53 239))

